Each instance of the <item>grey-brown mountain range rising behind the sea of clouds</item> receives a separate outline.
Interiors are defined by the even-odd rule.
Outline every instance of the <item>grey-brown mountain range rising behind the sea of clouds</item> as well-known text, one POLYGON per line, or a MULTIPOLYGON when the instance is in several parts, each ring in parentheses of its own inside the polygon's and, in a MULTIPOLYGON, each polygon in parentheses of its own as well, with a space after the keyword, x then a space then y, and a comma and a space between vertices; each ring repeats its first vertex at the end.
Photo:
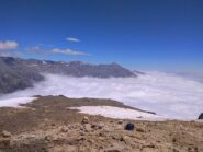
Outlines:
POLYGON ((0 93, 10 93, 33 86, 34 82, 43 81, 42 73, 66 74, 71 77, 126 78, 137 73, 117 63, 90 65, 81 61, 50 61, 0 57, 0 93))

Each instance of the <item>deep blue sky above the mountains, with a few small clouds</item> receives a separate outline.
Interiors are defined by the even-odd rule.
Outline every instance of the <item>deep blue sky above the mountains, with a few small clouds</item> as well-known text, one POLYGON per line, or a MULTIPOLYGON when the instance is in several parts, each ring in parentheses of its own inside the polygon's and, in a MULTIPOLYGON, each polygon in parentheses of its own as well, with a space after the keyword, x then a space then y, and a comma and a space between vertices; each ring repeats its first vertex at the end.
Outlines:
POLYGON ((0 0, 0 55, 203 70, 203 0, 0 0))

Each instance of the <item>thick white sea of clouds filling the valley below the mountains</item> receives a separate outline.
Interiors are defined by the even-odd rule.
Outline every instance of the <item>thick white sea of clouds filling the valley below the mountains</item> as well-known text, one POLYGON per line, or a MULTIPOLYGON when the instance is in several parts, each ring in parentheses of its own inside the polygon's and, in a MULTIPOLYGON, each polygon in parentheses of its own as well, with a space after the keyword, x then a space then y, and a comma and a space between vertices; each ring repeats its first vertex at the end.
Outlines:
POLYGON ((0 106, 5 98, 60 94, 68 97, 112 98, 172 118, 196 119, 203 112, 202 81, 166 72, 111 79, 45 74, 45 81, 36 83, 34 87, 1 96, 0 106))

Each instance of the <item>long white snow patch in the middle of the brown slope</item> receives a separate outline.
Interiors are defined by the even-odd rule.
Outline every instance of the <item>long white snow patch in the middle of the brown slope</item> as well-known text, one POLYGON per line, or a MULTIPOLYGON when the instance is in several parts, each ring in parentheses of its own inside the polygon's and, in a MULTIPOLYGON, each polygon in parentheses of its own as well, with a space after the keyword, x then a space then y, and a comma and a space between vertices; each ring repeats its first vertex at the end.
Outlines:
POLYGON ((79 113, 84 113, 89 115, 100 115, 115 119, 167 120, 167 118, 165 117, 153 115, 149 113, 113 106, 81 106, 81 107, 71 107, 71 109, 79 109, 80 110, 79 113))

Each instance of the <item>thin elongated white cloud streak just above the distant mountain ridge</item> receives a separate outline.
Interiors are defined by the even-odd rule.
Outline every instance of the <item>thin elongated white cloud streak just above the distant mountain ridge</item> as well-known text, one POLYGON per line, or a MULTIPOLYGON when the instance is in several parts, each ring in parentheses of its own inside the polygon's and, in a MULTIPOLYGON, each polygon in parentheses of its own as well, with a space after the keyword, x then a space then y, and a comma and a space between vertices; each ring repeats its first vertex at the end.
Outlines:
POLYGON ((52 52, 54 54, 65 54, 65 55, 68 55, 68 56, 90 56, 90 54, 87 54, 87 52, 82 52, 82 51, 76 51, 76 50, 72 50, 72 49, 59 49, 59 48, 55 48, 52 50, 52 52))

